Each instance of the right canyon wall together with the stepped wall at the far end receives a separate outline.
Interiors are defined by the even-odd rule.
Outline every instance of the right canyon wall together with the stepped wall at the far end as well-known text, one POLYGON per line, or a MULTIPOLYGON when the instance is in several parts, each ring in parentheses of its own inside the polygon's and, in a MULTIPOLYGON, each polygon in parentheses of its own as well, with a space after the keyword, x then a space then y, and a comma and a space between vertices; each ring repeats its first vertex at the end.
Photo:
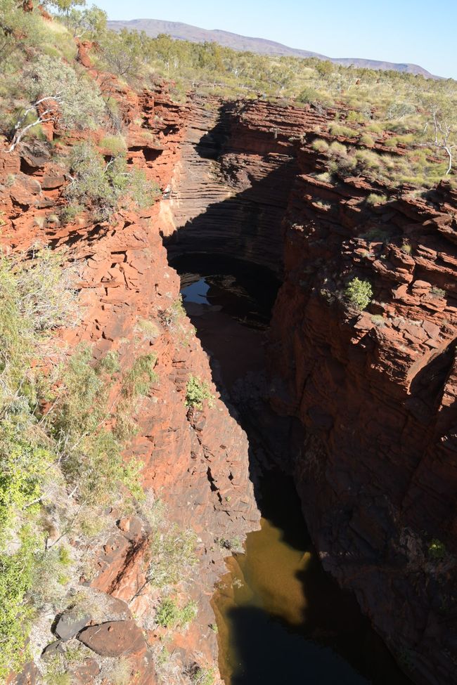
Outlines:
POLYGON ((457 682, 457 194, 318 180, 311 143, 333 138, 310 107, 210 107, 192 105, 169 254, 283 271, 269 395, 305 430, 283 467, 323 565, 413 679, 457 682), (387 202, 368 204, 373 192, 387 202), (344 296, 355 276, 373 288, 366 311, 344 296))

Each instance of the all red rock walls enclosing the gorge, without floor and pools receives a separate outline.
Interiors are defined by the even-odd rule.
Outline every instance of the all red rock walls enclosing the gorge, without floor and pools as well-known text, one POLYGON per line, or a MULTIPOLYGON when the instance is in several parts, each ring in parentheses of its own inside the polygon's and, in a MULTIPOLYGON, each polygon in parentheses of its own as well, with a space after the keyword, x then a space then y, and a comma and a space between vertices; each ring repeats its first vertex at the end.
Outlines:
MULTIPOLYGON (((123 369, 134 355, 157 354, 160 383, 139 407, 140 431, 126 458, 141 457, 145 488, 201 540, 192 590, 198 624, 180 648, 188 660, 197 650, 214 658, 209 597, 224 569, 214 540, 244 535, 258 512, 236 419, 220 400, 202 412, 184 405, 188 375, 210 381, 210 368, 187 320, 179 330, 164 323, 179 278, 162 235, 171 257, 217 252, 284 273, 270 392, 276 411, 306 430, 287 466, 311 535, 324 566, 355 592, 416 681, 455 683, 455 191, 442 184, 423 200, 361 178, 318 181, 310 174, 323 165, 309 143, 330 136, 325 117, 308 107, 176 105, 164 89, 115 88, 129 159, 160 184, 162 202, 141 215, 120 213, 112 226, 85 215, 60 226, 65 176, 46 146, 22 148, 0 155, 0 169, 14 177, 0 188, 2 242, 25 248, 41 239, 70 249, 85 306, 82 325, 66 334, 72 345, 117 351, 123 369), (395 201, 370 209, 364 199, 373 190, 395 201), (363 313, 342 297, 353 275, 373 286, 375 301, 363 313), (442 559, 428 552, 435 539, 445 545, 442 559)), ((152 600, 136 593, 150 530, 134 517, 112 517, 115 530, 94 553, 94 577, 82 580, 147 616, 152 600)), ((121 629, 114 623, 135 630, 129 616, 110 618, 121 629)), ((119 639, 103 631, 104 648, 117 649, 119 639)), ((153 675, 148 660, 141 663, 146 682, 153 675)), ((80 681, 96 669, 88 663, 80 681)), ((21 682, 34 674, 27 667, 21 682)))

